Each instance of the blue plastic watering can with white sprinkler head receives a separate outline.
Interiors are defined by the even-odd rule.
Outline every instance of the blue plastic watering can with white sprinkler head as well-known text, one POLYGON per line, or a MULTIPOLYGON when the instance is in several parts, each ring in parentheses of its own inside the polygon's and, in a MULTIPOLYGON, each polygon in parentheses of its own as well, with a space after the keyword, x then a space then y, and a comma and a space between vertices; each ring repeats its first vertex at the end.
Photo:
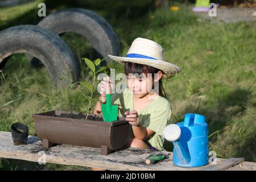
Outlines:
POLYGON ((174 164, 199 167, 208 164, 208 125, 200 114, 185 114, 184 122, 164 128, 164 138, 174 144, 174 164))

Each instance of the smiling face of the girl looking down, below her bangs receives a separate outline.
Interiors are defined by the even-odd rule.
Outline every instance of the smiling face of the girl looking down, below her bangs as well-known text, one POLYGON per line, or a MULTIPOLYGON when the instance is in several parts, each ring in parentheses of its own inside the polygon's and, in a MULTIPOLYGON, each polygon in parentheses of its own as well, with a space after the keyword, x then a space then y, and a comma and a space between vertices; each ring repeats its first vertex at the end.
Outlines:
POLYGON ((133 91, 133 94, 137 98, 142 98, 146 96, 148 93, 152 92, 152 80, 154 79, 154 74, 142 73, 138 74, 129 74, 127 77, 127 86, 133 91))

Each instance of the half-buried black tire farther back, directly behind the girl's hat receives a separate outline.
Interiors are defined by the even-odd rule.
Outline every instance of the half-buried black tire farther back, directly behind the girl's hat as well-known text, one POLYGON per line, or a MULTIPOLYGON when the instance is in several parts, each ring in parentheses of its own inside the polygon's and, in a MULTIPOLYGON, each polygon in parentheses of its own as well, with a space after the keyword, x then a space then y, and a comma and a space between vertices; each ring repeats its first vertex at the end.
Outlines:
POLYGON ((112 26, 101 16, 85 9, 65 9, 49 14, 38 26, 60 35, 65 32, 80 34, 100 53, 102 58, 110 61, 108 55, 119 55, 120 45, 112 26))

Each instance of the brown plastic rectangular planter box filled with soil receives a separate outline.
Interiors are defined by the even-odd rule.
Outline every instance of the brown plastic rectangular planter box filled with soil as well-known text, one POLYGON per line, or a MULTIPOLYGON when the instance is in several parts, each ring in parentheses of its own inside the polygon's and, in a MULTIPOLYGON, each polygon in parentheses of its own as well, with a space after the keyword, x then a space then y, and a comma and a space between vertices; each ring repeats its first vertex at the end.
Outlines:
MULTIPOLYGON (((36 134, 43 147, 53 144, 73 144, 77 146, 101 148, 101 154, 107 155, 122 148, 128 138, 129 123, 119 117, 115 122, 90 121, 57 117, 60 114, 78 114, 68 111, 48 111, 33 114, 36 134)), ((90 114, 93 117, 101 115, 90 114)))

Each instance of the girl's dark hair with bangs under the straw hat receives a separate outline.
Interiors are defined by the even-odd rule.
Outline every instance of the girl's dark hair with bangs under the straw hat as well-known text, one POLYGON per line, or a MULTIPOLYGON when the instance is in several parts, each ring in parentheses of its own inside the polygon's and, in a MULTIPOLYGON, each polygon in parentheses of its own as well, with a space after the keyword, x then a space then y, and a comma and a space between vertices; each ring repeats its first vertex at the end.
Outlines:
MULTIPOLYGON (((133 73, 133 74, 137 73, 138 75, 145 73, 146 76, 147 76, 147 73, 151 73, 152 75, 154 75, 154 73, 157 73, 158 71, 161 71, 161 70, 158 68, 150 67, 148 65, 144 65, 144 64, 125 62, 126 76, 128 76, 129 73, 133 73)), ((152 82, 153 82, 152 85, 154 86, 154 80, 152 80, 152 82)), ((166 98, 166 92, 164 91, 164 88, 163 88, 162 78, 160 78, 158 86, 159 86, 159 96, 166 98)))

